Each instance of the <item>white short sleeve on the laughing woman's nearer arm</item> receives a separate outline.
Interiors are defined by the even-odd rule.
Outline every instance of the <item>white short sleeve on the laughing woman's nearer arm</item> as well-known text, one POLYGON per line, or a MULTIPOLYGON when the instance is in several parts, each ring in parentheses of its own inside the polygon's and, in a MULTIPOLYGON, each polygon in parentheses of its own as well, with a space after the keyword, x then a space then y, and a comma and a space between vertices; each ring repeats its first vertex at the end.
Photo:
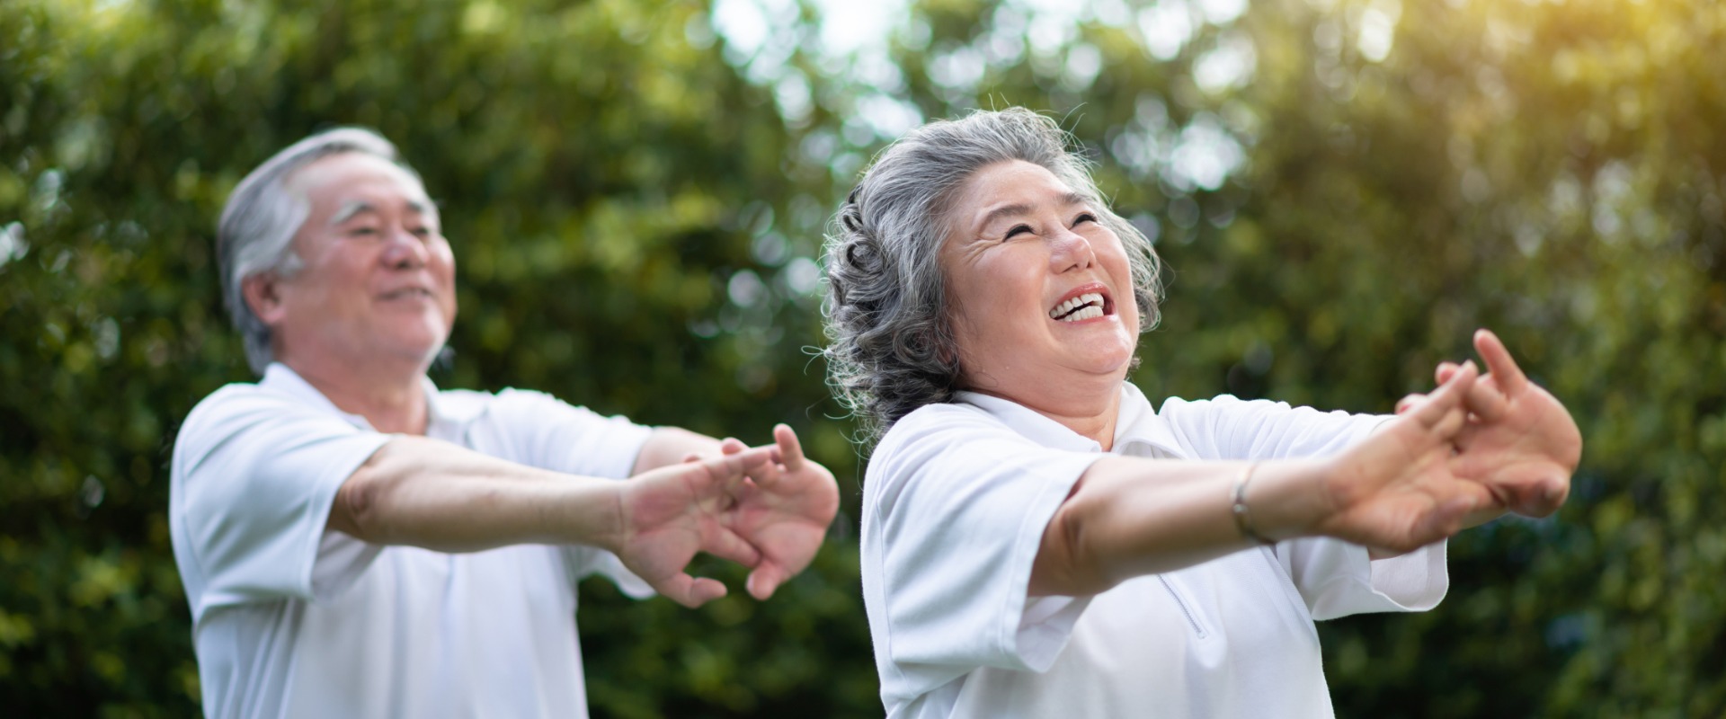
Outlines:
POLYGON ((1055 510, 1099 453, 1039 447, 930 405, 877 447, 865 481, 863 583, 885 695, 975 667, 1046 671, 1087 598, 1027 600, 1055 510), (891 667, 889 667, 891 666, 891 667))

